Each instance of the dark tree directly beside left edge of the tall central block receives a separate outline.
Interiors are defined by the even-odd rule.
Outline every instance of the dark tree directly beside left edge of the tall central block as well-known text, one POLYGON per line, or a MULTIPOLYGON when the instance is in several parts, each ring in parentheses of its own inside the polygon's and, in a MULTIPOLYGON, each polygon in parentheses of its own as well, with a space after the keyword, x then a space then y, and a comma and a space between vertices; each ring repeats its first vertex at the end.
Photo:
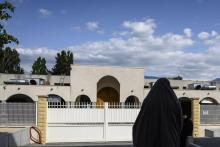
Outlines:
POLYGON ((70 75, 71 64, 73 64, 73 53, 62 50, 57 53, 56 64, 52 68, 53 75, 70 75))

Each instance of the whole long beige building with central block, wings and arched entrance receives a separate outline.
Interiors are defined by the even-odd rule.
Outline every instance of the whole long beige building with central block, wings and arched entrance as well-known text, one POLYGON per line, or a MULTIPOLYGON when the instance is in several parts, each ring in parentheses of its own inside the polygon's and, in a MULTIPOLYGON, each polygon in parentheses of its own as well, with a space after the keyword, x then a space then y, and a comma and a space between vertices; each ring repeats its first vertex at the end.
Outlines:
MULTIPOLYGON (((125 102, 129 96, 142 102, 156 79, 144 79, 144 68, 72 65, 70 76, 0 74, 0 101, 27 96, 33 101, 39 95, 53 95, 64 101, 125 102), (11 79, 31 81, 43 79, 43 84, 5 84, 11 79)), ((210 97, 220 102, 220 90, 189 89, 192 83, 210 84, 210 81, 170 80, 178 98, 210 97)))

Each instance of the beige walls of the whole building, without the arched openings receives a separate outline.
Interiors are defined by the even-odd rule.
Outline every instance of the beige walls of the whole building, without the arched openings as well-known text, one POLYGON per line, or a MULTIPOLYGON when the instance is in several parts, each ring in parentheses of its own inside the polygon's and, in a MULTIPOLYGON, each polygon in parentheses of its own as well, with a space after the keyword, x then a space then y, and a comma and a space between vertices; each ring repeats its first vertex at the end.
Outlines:
MULTIPOLYGON (((156 81, 156 79, 144 79, 143 68, 72 65, 71 77, 64 77, 64 83, 70 83, 71 86, 53 86, 54 83, 59 83, 63 76, 0 74, 0 100, 4 101, 14 94, 25 94, 37 101, 38 95, 56 94, 66 101, 75 101, 77 96, 85 94, 90 97, 92 102, 96 102, 97 91, 105 87, 105 83, 97 87, 97 82, 104 76, 113 76, 120 83, 120 88, 115 85, 112 85, 112 87, 115 86, 116 90, 120 89, 121 102, 125 102, 130 95, 137 96, 142 102, 150 90, 150 88, 144 88, 144 85, 149 85, 150 82, 156 81), (3 84, 4 81, 10 79, 25 78, 42 78, 49 80, 51 85, 3 84)), ((188 84, 196 82, 209 83, 209 81, 170 80, 171 86, 179 86, 179 89, 174 90, 177 97, 198 97, 200 100, 205 97, 212 97, 220 103, 219 88, 217 90, 183 89, 188 84)))

